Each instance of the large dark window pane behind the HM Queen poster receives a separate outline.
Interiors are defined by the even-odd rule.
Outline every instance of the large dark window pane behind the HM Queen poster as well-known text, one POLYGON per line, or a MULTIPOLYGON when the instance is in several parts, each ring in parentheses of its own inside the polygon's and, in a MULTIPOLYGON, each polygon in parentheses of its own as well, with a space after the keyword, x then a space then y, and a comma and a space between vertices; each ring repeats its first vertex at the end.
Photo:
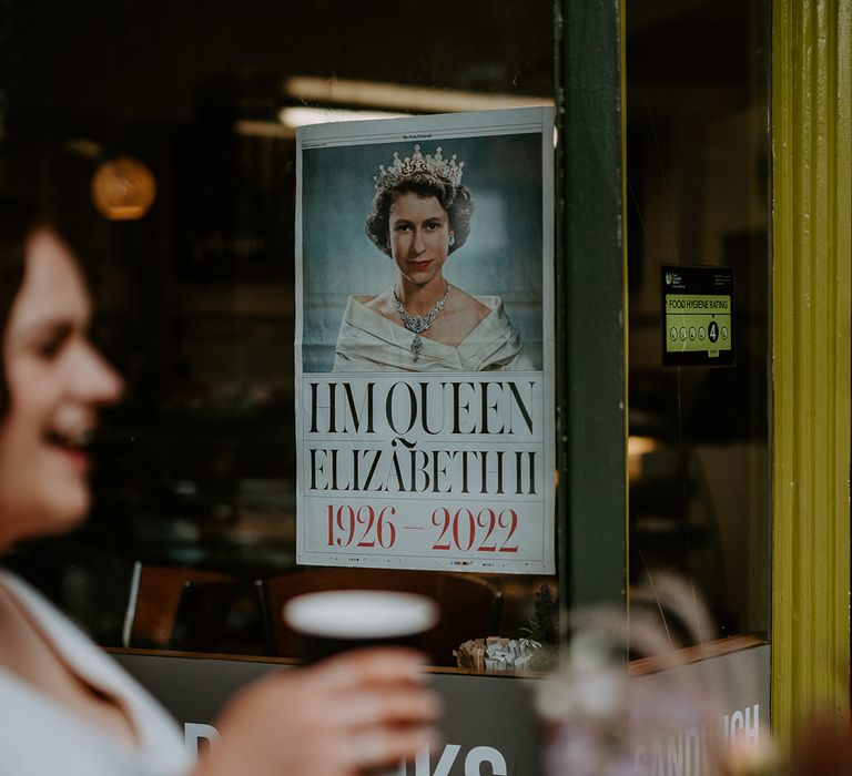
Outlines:
MULTIPOLYGON (((89 523, 10 563, 106 645, 126 635, 134 561, 232 574, 215 649, 264 653, 253 583, 296 568, 294 127, 551 102, 552 8, 10 6, 1 172, 65 222, 94 336, 126 380, 97 440, 89 523), (150 208, 122 186, 151 186, 150 208)), ((525 635, 537 602, 555 616, 555 578, 481 576, 501 615, 466 637, 525 635)))

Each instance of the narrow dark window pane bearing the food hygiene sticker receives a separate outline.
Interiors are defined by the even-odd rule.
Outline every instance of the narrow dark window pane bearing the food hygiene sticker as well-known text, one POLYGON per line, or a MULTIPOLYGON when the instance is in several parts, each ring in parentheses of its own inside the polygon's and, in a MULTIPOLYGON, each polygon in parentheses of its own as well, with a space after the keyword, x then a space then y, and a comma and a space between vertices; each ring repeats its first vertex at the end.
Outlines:
POLYGON ((762 0, 627 6, 631 584, 674 571, 720 636, 758 640, 769 629, 768 31, 762 0), (734 365, 662 366, 667 266, 732 269, 734 365))

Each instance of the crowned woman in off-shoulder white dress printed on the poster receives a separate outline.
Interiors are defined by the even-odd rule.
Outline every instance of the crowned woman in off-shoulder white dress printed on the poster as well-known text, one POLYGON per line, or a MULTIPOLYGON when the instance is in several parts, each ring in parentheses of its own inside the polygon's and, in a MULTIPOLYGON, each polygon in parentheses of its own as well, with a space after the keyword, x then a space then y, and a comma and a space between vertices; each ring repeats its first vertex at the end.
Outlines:
POLYGON ((373 296, 349 296, 334 370, 530 369, 503 299, 469 293, 446 277, 453 263, 465 261, 474 221, 465 162, 440 145, 415 144, 403 153, 374 174, 365 224, 371 242, 393 262, 395 282, 373 296))

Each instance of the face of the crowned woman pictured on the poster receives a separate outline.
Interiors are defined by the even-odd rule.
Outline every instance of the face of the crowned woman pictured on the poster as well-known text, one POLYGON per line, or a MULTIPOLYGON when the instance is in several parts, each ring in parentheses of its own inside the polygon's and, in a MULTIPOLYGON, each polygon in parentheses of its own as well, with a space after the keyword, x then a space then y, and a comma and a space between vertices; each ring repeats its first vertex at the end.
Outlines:
POLYGON ((437 197, 399 194, 388 217, 390 255, 403 277, 417 286, 442 276, 449 251, 449 216, 437 197))

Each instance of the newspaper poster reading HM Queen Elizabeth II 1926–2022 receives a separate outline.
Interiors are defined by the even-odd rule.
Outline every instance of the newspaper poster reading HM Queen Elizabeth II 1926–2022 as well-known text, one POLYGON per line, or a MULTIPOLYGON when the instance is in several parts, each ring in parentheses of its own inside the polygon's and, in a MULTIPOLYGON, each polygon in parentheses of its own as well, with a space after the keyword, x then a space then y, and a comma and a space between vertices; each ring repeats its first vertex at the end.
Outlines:
POLYGON ((552 573, 552 109, 296 146, 297 562, 552 573))

